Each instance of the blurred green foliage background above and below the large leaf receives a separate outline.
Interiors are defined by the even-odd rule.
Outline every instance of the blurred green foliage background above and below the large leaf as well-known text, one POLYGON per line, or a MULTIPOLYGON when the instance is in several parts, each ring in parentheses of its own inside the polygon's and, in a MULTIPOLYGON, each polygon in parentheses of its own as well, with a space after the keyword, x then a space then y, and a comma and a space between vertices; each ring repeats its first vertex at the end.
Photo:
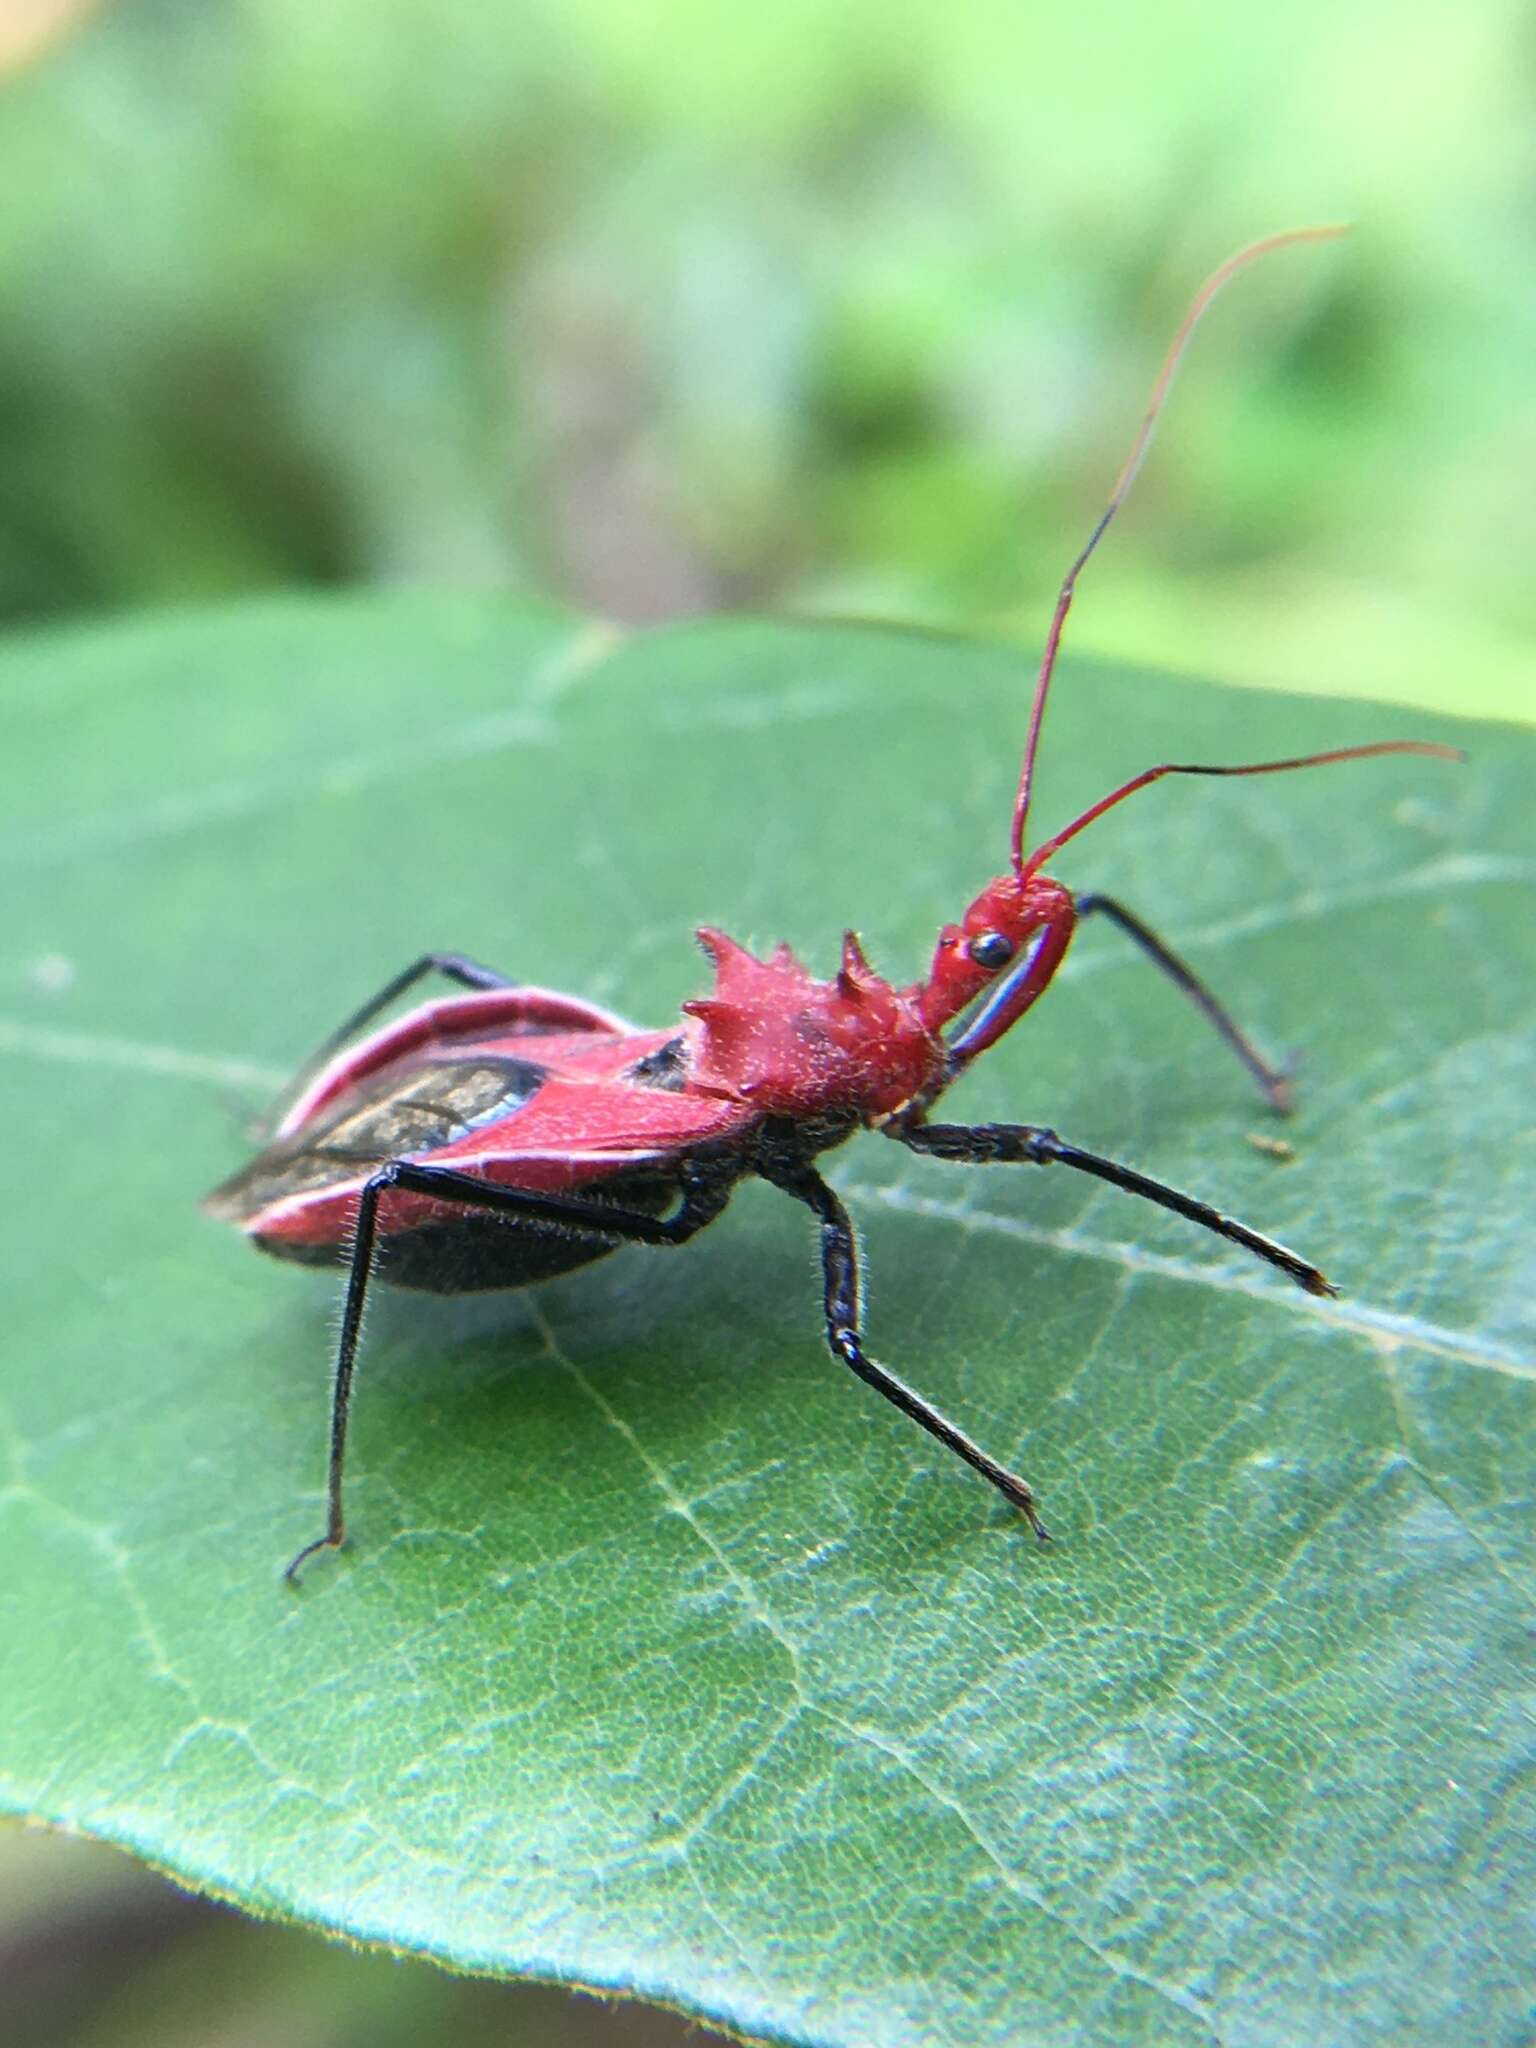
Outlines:
MULTIPOLYGON (((1534 84, 1499 0, 0 0, 0 621, 422 582, 1034 647, 1198 279, 1346 217, 1202 332, 1073 645, 1532 717, 1534 84)), ((0 1962, 37 2048, 674 2038, 14 1831, 0 1962)))

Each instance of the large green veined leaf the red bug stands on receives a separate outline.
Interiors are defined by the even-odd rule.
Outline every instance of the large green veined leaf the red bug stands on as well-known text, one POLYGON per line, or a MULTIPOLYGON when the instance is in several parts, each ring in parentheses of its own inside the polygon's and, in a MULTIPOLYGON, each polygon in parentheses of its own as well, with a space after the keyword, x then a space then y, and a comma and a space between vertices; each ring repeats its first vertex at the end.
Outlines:
MULTIPOLYGON (((10 645, 8 1808, 778 2040, 1522 2036, 1524 735, 1163 784, 1061 858, 1305 1047, 1292 1161, 1094 926, 952 1098, 1221 1202, 1337 1303, 1065 1171, 829 1159, 872 1348, 1030 1477, 1049 1552, 829 1364, 807 1217, 750 1186, 686 1257, 381 1294, 352 1548, 279 1579, 336 1286, 199 1217, 242 1102, 428 946, 645 1022, 702 987, 700 920, 920 973, 1006 860, 1026 688, 922 635, 440 598, 10 645)), ((1075 664, 1038 827, 1151 760, 1405 729, 1075 664)))

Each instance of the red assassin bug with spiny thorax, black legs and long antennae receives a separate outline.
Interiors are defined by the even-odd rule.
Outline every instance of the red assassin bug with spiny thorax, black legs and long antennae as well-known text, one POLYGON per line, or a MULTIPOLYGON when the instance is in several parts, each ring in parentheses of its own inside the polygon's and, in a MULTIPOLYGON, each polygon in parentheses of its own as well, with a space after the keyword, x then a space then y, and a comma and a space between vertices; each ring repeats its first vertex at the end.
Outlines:
POLYGON ((682 1245, 719 1217, 748 1174, 805 1202, 819 1223, 831 1356, 989 1479, 1044 1540, 1028 1485, 864 1350, 854 1225, 815 1169, 817 1153, 860 1124, 934 1159, 1075 1167, 1243 1245, 1309 1294, 1335 1292, 1317 1266, 1284 1245, 1055 1130, 936 1124, 928 1112, 1044 993, 1077 920, 1096 911, 1184 989, 1270 1104, 1284 1110, 1284 1075, 1194 971, 1122 903, 1073 897, 1042 872, 1044 862, 1112 805, 1167 774, 1278 774, 1372 754, 1456 758, 1452 748, 1389 739, 1231 768, 1163 762, 1090 805, 1032 854, 1024 850, 1040 721, 1077 578, 1141 469, 1196 322, 1227 279, 1257 256, 1339 231, 1270 236, 1231 256, 1196 293, 1110 502, 1057 598, 1024 741, 1010 870, 987 883, 961 924, 944 926, 926 981, 903 989, 883 981, 852 932, 836 977, 815 981, 788 946, 758 961, 702 928, 713 993, 686 1001, 680 1024, 647 1032, 575 995, 520 987, 459 952, 432 952, 395 975, 307 1063, 274 1141, 205 1204, 264 1251, 348 1268, 326 1534, 293 1559, 289 1579, 346 1534, 346 1419, 373 1278, 453 1294, 526 1286, 627 1243, 682 1245), (352 1042, 432 973, 463 993, 422 1004, 352 1042))

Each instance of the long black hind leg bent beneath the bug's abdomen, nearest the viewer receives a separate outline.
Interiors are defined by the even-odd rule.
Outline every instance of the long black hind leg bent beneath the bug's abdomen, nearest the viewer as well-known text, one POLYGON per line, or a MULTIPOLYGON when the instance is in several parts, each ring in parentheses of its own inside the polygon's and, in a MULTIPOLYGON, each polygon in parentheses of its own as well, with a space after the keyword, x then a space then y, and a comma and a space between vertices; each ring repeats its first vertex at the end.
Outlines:
POLYGON ((358 1196, 346 1305, 342 1309, 342 1335, 336 1346, 326 1534, 299 1550, 285 1573, 289 1583, 299 1583, 299 1571, 315 1550, 340 1550, 346 1540, 346 1518, 342 1513, 346 1419, 352 1405, 352 1368, 356 1364, 358 1335, 362 1333, 362 1307, 369 1296, 369 1282, 373 1280, 381 1196, 391 1188, 399 1188, 408 1194, 430 1194, 438 1202, 461 1202, 465 1208, 489 1208, 496 1214, 535 1227, 598 1237, 606 1243, 684 1245, 696 1231, 702 1231, 707 1223, 719 1217, 731 1198, 733 1180, 733 1174, 727 1178, 707 1167, 684 1167, 682 1202, 676 1212, 672 1217, 647 1217, 641 1210, 616 1208, 582 1196, 500 1188, 494 1182, 477 1180, 473 1174, 455 1174, 451 1167, 438 1165, 416 1165, 410 1159, 393 1159, 389 1165, 379 1167, 362 1184, 362 1194, 358 1196))

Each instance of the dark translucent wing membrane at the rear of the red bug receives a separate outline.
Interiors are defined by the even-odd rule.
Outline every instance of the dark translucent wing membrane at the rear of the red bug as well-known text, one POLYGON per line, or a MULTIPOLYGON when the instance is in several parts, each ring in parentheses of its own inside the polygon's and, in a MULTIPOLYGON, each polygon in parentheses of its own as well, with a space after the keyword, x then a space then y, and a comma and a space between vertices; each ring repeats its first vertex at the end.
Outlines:
POLYGON ((520 1110, 545 1073, 528 1059, 483 1053, 387 1067, 256 1153, 203 1206, 213 1217, 246 1223, 289 1196, 360 1180, 389 1159, 438 1151, 475 1124, 520 1110))

